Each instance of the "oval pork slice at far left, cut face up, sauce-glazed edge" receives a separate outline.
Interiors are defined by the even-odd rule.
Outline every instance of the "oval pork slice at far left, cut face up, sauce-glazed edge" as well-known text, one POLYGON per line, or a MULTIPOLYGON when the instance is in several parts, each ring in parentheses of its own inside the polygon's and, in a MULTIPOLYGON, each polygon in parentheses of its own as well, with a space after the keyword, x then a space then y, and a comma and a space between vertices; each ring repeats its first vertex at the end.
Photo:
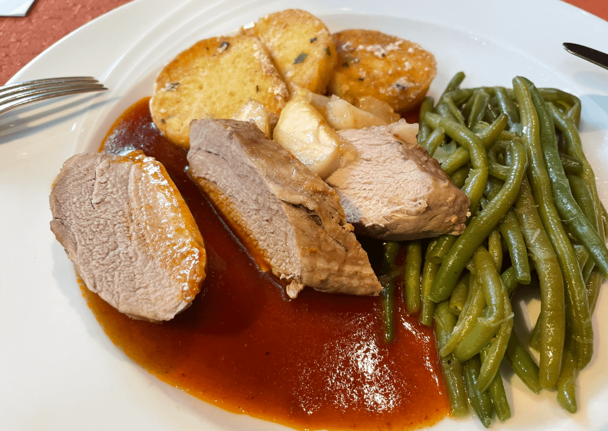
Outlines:
POLYGON ((87 288, 137 319, 170 320, 205 278, 201 233, 165 168, 140 151, 77 154, 50 193, 50 229, 87 288))

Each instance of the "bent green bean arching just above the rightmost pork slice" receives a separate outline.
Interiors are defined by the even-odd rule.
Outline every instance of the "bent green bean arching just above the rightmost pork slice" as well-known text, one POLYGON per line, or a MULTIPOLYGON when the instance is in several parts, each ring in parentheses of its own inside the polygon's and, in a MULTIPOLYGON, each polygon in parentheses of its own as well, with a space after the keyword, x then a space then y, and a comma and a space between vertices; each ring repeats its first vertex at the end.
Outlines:
POLYGON ((449 137, 469 151, 473 168, 471 169, 471 173, 469 173, 465 188, 468 191, 469 201, 471 201, 469 209, 474 210, 477 208, 479 199, 481 199, 483 195, 483 188, 485 187, 486 181, 488 181, 486 151, 482 142, 477 135, 472 133, 465 126, 440 117, 437 114, 431 114, 429 112, 424 117, 424 121, 434 128, 439 126, 443 127, 449 137))

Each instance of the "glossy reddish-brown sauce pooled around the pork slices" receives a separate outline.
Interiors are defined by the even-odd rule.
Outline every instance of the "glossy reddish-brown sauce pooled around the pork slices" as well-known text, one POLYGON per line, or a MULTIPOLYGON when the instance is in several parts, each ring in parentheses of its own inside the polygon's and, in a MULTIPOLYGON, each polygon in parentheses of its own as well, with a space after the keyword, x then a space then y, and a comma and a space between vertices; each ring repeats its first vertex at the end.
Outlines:
POLYGON ((185 172, 186 151, 151 122, 148 99, 115 123, 103 150, 162 162, 204 237, 207 278, 170 322, 132 320, 83 294, 111 340, 170 385, 232 412, 295 429, 414 429, 449 411, 434 333, 396 301, 396 340, 382 341, 378 297, 305 289, 289 300, 260 272, 185 172))

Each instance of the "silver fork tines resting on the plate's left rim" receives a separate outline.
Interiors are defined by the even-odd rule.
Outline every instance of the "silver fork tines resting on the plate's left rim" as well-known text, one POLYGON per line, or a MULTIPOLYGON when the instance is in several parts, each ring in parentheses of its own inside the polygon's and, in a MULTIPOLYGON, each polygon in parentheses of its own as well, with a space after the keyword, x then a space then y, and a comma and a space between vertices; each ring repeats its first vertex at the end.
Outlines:
POLYGON ((46 78, 9 84, 0 87, 0 115, 47 98, 103 90, 107 88, 92 77, 46 78))

